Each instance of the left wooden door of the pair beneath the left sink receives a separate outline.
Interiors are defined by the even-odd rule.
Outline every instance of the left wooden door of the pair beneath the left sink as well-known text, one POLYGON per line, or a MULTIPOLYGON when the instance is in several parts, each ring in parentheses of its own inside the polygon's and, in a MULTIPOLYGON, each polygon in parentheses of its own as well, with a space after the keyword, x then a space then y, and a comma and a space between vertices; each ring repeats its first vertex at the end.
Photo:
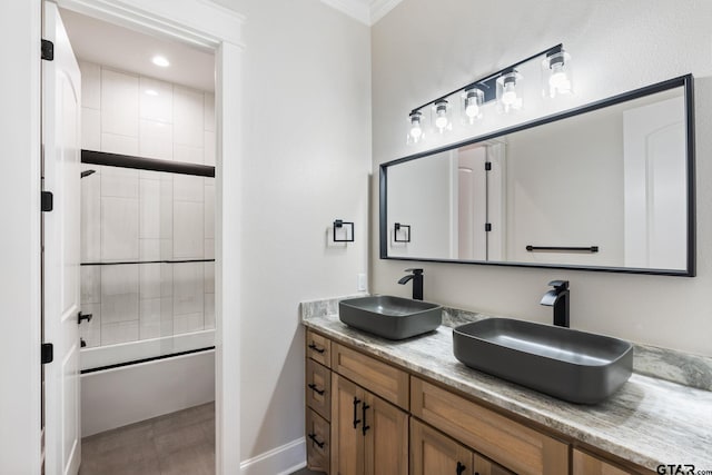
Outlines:
POLYGON ((364 475, 364 389, 332 375, 332 473, 364 475))

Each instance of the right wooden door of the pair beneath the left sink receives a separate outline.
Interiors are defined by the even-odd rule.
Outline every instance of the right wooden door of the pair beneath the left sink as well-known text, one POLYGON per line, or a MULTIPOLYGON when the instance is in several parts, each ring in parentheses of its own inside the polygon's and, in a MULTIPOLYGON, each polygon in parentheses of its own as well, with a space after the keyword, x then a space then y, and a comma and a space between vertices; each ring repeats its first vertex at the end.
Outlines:
POLYGON ((366 475, 407 475, 408 414, 366 392, 362 405, 366 475))

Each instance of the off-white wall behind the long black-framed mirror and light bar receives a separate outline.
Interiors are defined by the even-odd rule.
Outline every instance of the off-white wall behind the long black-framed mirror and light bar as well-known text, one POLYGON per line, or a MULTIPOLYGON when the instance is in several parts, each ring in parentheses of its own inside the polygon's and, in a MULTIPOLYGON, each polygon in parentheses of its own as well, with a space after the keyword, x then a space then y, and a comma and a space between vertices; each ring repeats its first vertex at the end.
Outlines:
MULTIPOLYGON (((692 72, 695 81, 698 277, 500 268, 425 267, 425 298, 461 308, 550 321, 538 305, 553 278, 571 280, 572 326, 712 355, 712 3, 666 0, 496 2, 408 0, 373 27, 373 152, 411 155, 407 113, 427 100, 563 42, 575 61, 575 102, 692 72)), ((538 81, 538 78, 534 79, 538 81)), ((377 200, 377 177, 372 199, 377 200)), ((377 226, 377 208, 372 207, 377 226)), ((384 261, 372 235, 372 290, 403 295, 407 263, 384 261)))

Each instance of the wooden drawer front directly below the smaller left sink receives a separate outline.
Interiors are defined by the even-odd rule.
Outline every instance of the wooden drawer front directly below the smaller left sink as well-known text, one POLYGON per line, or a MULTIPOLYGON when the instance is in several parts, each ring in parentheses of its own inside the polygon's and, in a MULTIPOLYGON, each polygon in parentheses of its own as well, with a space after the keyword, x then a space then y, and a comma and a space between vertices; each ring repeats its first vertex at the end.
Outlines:
POLYGON ((336 343, 332 353, 334 372, 408 410, 407 373, 336 343))

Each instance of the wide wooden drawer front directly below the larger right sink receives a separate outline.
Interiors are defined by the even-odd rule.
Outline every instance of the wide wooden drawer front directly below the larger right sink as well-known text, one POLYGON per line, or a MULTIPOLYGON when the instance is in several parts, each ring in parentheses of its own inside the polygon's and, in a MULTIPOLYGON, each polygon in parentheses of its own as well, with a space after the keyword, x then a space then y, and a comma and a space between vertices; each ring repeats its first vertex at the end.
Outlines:
POLYGON ((568 445, 411 378, 412 414, 521 475, 568 474, 568 445))

